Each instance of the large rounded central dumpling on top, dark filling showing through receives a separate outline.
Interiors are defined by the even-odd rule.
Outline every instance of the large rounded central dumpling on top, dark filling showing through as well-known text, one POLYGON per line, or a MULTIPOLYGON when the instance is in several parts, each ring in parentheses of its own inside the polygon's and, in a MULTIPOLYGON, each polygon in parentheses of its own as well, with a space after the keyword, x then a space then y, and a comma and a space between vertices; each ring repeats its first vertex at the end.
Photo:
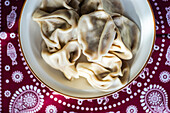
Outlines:
POLYGON ((115 24, 104 11, 83 15, 78 22, 78 42, 89 60, 96 60, 110 49, 115 35, 115 24))

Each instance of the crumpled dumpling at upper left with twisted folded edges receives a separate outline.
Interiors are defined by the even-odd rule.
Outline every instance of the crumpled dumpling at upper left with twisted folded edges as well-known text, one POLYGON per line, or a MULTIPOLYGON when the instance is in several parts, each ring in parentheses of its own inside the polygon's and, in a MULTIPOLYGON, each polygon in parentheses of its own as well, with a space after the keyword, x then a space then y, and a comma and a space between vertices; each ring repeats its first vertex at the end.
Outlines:
POLYGON ((73 10, 60 9, 53 13, 36 10, 33 20, 41 28, 42 38, 50 52, 61 49, 68 41, 77 39, 75 28, 79 16, 73 10))

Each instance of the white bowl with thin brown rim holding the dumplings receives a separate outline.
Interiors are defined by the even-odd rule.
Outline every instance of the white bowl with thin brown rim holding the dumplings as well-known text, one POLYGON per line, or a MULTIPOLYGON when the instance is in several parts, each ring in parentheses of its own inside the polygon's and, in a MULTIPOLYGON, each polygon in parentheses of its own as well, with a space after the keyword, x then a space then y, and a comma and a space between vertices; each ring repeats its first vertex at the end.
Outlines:
MULTIPOLYGON (((147 0, 121 0, 125 15, 132 19, 141 30, 139 50, 130 69, 130 84, 146 65, 155 41, 155 21, 151 6, 147 0)), ((20 17, 20 44, 24 58, 33 74, 52 90, 74 98, 98 98, 113 94, 118 89, 102 92, 92 88, 85 79, 67 80, 64 75, 51 68, 42 59, 40 28, 32 20, 32 14, 39 7, 41 0, 27 0, 20 17)))

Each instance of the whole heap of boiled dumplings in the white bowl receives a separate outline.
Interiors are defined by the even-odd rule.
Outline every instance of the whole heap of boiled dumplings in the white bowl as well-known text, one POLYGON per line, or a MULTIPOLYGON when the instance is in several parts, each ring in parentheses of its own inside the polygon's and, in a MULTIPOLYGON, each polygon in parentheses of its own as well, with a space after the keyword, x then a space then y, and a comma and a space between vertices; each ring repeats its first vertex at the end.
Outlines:
POLYGON ((120 0, 42 0, 33 20, 41 29, 42 58, 67 79, 84 77, 101 91, 128 82, 140 31, 123 16, 120 0))

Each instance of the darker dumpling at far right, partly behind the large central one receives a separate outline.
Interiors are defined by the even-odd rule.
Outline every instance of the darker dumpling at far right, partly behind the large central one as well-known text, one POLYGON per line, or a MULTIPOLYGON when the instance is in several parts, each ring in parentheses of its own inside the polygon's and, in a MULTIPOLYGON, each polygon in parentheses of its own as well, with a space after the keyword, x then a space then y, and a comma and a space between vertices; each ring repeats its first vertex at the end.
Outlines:
POLYGON ((120 31, 122 41, 126 47, 135 54, 138 49, 140 39, 140 30, 138 26, 130 19, 119 14, 115 14, 115 16, 113 16, 113 21, 120 31))

